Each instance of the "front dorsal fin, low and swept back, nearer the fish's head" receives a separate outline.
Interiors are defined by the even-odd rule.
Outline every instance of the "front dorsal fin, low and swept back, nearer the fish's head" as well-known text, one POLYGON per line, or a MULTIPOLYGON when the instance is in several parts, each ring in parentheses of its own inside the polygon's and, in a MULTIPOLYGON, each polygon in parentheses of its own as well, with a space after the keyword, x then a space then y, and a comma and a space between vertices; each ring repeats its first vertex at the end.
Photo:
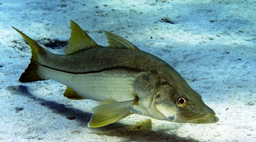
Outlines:
POLYGON ((112 48, 122 48, 122 49, 132 49, 132 50, 139 50, 136 46, 134 46, 130 41, 127 41, 126 39, 112 34, 111 32, 104 31, 106 34, 106 37, 108 38, 108 47, 112 48))

